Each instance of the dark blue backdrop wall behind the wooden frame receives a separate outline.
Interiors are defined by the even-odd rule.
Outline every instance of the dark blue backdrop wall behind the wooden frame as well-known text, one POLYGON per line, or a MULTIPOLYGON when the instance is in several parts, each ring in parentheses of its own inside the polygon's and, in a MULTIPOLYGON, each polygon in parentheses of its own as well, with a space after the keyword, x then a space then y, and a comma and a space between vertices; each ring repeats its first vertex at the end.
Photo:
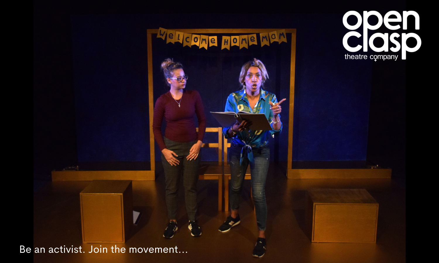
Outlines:
MULTIPOLYGON (((371 62, 345 60, 342 14, 265 15, 257 21, 249 15, 213 16, 179 22, 162 15, 72 17, 79 162, 150 160, 146 29, 158 27, 297 28, 293 160, 366 160, 371 62)), ((167 91, 160 62, 173 57, 190 75, 187 89, 200 92, 208 127, 218 125, 209 111, 224 110, 227 95, 239 89, 241 65, 261 59, 270 74, 266 88, 279 100, 287 98, 284 130, 270 142, 272 160, 287 160, 290 38, 230 51, 183 48, 155 38, 152 45, 154 101, 167 91)), ((205 150, 203 160, 217 160, 213 149, 205 150)))

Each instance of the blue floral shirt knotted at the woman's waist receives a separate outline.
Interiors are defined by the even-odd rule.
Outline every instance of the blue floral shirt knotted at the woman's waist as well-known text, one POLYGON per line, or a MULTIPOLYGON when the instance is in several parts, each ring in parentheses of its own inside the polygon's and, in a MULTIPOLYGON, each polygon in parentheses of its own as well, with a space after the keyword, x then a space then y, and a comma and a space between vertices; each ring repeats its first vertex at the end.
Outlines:
MULTIPOLYGON (((259 92, 259 100, 255 104, 255 107, 250 107, 250 103, 248 103, 247 94, 245 93, 245 89, 237 92, 233 92, 229 95, 226 102, 226 107, 224 111, 244 111, 249 113, 263 113, 265 114, 267 120, 270 122, 271 127, 273 128, 273 111, 270 110, 270 101, 274 104, 277 103, 276 95, 273 93, 267 92, 263 89, 260 89, 259 92)), ((281 115, 279 115, 281 117, 281 115)), ((227 130, 230 127, 223 128, 223 135, 226 137, 226 139, 230 138, 227 130)), ((268 138, 271 135, 274 137, 274 135, 278 135, 282 131, 282 125, 281 128, 276 130, 270 130, 270 131, 255 131, 250 130, 247 131, 238 131, 237 136, 232 138, 232 142, 237 145, 242 145, 243 149, 247 148, 248 150, 248 159, 252 161, 253 154, 251 148, 261 148, 263 146, 268 145, 268 138)), ((241 152, 241 162, 242 162, 242 152, 241 152)))

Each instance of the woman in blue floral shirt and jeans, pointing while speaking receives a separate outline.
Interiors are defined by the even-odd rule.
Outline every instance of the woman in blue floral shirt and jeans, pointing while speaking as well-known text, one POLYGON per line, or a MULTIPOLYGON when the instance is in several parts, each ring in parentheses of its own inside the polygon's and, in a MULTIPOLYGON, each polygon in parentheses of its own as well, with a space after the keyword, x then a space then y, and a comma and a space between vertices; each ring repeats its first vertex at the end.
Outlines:
POLYGON ((283 99, 278 103, 273 93, 262 89, 261 86, 267 79, 268 73, 260 60, 253 59, 245 63, 239 76, 242 89, 229 95, 224 109, 225 112, 244 111, 265 114, 272 128, 268 131, 249 130, 248 126, 251 123, 242 121, 241 124, 236 122, 233 126, 223 129, 223 135, 226 138, 232 138, 230 143, 231 183, 229 191, 231 213, 218 230, 227 232, 231 227, 241 222, 238 214, 239 196, 244 183, 245 172, 248 164, 250 164, 253 202, 255 203, 259 229, 259 237, 253 249, 253 256, 255 257, 262 257, 266 249, 267 204, 265 181, 270 163, 268 138, 278 135, 282 130, 281 116, 279 115, 281 113, 280 104, 286 100, 283 99))

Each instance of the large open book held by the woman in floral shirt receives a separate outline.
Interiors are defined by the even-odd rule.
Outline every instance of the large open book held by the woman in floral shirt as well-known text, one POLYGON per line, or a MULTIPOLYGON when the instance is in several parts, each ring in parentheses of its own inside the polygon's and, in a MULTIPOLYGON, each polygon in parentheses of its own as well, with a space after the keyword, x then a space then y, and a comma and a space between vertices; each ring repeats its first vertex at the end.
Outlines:
POLYGON ((272 130, 270 123, 268 122, 265 114, 263 113, 248 113, 239 111, 237 113, 227 112, 210 112, 213 117, 221 124, 222 127, 230 127, 236 121, 241 123, 242 121, 248 121, 252 124, 248 126, 250 130, 272 130))

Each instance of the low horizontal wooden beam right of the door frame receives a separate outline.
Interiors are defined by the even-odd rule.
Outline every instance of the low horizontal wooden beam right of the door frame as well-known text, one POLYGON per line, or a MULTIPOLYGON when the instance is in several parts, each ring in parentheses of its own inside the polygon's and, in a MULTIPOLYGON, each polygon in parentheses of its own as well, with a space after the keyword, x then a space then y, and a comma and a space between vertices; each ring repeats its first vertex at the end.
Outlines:
POLYGON ((288 169, 288 179, 392 178, 392 169, 288 169))

